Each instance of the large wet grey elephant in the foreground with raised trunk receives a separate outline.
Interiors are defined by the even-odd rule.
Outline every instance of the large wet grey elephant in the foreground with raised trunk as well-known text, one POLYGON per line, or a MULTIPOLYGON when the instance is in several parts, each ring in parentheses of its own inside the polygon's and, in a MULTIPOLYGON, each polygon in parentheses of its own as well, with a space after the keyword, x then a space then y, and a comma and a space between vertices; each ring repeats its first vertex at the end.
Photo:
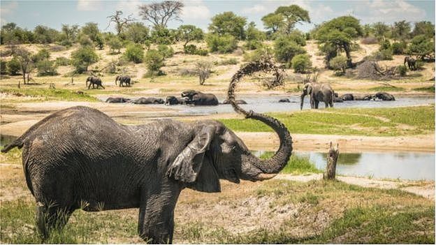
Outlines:
POLYGON ((219 179, 270 179, 289 161, 289 131, 276 119, 251 113, 279 135, 272 158, 252 155, 219 121, 165 119, 127 126, 82 106, 51 114, 1 151, 22 148, 43 238, 62 228, 75 209, 139 208, 140 237, 170 243, 174 208, 184 188, 213 193, 220 191, 219 179))

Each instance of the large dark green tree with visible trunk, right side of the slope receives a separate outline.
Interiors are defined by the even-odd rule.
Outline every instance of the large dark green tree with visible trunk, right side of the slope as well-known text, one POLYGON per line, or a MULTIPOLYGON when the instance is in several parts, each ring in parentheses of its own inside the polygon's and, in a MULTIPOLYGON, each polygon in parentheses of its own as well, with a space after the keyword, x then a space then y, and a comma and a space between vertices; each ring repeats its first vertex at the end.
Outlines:
POLYGON ((315 39, 321 46, 333 47, 337 53, 345 52, 347 64, 351 67, 351 47, 359 36, 362 36, 359 21, 352 16, 342 16, 321 24, 317 29, 315 39))

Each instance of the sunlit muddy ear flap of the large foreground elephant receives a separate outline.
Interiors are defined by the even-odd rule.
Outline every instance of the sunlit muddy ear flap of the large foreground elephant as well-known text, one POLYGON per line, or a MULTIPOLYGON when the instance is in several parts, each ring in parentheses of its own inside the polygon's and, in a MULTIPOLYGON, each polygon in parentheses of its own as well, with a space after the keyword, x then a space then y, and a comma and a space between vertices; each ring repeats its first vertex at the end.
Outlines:
MULTIPOLYGON (((209 149, 215 130, 215 126, 203 126, 194 140, 189 142, 187 147, 175 158, 175 161, 168 166, 168 177, 187 184, 196 181, 198 173, 201 172, 202 165, 204 165, 205 151, 209 149)), ((211 165, 210 168, 213 166, 211 165)))

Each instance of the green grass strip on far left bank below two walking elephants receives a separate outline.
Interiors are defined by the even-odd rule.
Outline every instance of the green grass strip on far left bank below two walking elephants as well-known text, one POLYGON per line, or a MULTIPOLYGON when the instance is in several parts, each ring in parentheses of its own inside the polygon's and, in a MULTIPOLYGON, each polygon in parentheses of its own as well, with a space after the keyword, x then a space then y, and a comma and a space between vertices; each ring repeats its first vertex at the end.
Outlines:
POLYGON ((87 93, 80 94, 68 89, 0 89, 0 93, 40 97, 45 101, 99 101, 87 93))

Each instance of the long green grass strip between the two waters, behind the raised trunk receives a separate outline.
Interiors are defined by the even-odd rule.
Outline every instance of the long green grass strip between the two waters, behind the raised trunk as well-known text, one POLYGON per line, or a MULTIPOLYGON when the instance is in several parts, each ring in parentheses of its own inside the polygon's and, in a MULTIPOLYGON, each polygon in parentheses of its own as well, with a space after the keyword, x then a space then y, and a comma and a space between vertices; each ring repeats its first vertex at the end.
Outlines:
MULTIPOLYGON (((435 131, 435 106, 396 108, 344 108, 268 113, 285 124, 291 133, 398 136, 435 131), (405 125, 407 127, 405 127, 405 125)), ((272 132, 254 119, 219 119, 233 131, 272 132)))

